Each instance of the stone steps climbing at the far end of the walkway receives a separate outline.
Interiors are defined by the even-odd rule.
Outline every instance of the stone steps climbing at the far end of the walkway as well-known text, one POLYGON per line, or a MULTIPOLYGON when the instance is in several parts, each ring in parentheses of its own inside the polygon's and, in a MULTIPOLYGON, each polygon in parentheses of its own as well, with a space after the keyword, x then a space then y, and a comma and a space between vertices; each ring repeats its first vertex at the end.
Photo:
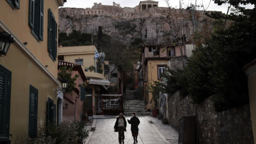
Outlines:
POLYGON ((137 115, 150 115, 150 112, 145 110, 145 101, 137 100, 135 91, 130 90, 124 95, 124 115, 130 116, 132 111, 137 115))

